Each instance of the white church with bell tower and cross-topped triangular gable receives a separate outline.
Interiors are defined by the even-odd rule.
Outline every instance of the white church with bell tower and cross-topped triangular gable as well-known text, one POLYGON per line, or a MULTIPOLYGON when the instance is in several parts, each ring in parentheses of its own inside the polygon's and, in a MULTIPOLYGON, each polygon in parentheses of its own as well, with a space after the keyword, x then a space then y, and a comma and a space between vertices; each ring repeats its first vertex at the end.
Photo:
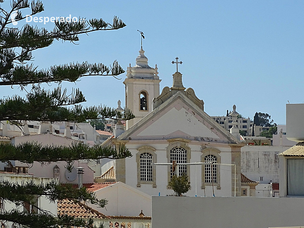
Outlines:
MULTIPOLYGON (((206 112, 194 89, 185 88, 182 74, 173 74, 173 85, 160 93, 157 65, 148 65, 141 48, 136 65, 129 65, 125 84, 126 106, 136 116, 116 125, 115 136, 102 145, 125 145, 131 158, 115 161, 116 181, 150 196, 172 195, 168 183, 186 174, 191 188, 186 196, 241 196, 241 147, 238 131, 226 131, 206 112), (199 164, 194 163, 213 163, 199 164), (162 163, 163 165, 161 165, 162 163), (167 163, 167 164, 164 164, 167 163)), ((251 189, 250 189, 251 191, 251 189)), ((254 191, 254 189, 252 190, 254 191)))

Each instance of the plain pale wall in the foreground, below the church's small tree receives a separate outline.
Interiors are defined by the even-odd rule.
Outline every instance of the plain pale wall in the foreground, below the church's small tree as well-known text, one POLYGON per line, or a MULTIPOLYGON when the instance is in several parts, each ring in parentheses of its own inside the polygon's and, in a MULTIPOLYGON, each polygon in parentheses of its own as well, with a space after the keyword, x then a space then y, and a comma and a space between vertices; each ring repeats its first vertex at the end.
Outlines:
POLYGON ((152 197, 154 228, 302 226, 304 198, 152 197))

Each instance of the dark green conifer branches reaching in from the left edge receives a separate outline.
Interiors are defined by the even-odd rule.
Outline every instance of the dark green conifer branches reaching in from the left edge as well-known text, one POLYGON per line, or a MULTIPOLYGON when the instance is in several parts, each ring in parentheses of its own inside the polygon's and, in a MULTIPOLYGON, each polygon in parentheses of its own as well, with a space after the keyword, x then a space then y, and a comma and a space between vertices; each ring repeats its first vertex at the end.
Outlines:
MULTIPOLYGON (((0 0, 3 3, 4 0, 0 0)), ((102 105, 83 107, 85 96, 79 89, 67 92, 62 89, 62 81, 77 82, 81 77, 117 75, 124 73, 123 68, 115 60, 109 66, 102 63, 69 63, 50 66, 47 69, 39 69, 32 61, 33 52, 47 48, 55 41, 79 41, 80 34, 92 31, 116 30, 126 26, 122 20, 114 17, 112 23, 102 19, 86 20, 80 18, 78 22, 56 21, 52 30, 38 28, 29 24, 22 27, 13 26, 11 15, 17 12, 15 21, 24 20, 26 16, 22 12, 30 8, 30 15, 44 11, 41 1, 12 0, 9 9, 0 5, 0 85, 17 86, 26 92, 25 97, 18 95, 0 99, 0 121, 9 121, 12 124, 22 126, 22 121, 67 121, 84 122, 93 119, 111 118, 115 120, 130 120, 135 116, 130 110, 118 112, 113 108, 102 105), (57 83, 54 90, 42 88, 42 84, 57 83), (28 88, 29 87, 29 88, 28 88)), ((18 146, 0 144, 0 161, 10 163, 19 160, 25 163, 34 161, 42 164, 56 161, 67 162, 66 168, 71 171, 74 160, 79 159, 120 159, 131 157, 130 151, 124 147, 119 148, 100 146, 90 147, 84 143, 75 143, 71 146, 42 146, 37 143, 23 143, 18 146)), ((7 201, 21 206, 23 202, 32 207, 36 197, 45 196, 55 202, 59 199, 75 199, 97 204, 104 207, 106 200, 98 200, 95 194, 86 188, 74 189, 70 185, 62 185, 58 182, 47 184, 10 183, 0 182, 0 203, 7 201)), ((1 210, 0 220, 11 221, 15 227, 94 227, 93 220, 83 220, 71 216, 53 215, 48 211, 37 208, 39 213, 27 213, 19 210, 1 210)))

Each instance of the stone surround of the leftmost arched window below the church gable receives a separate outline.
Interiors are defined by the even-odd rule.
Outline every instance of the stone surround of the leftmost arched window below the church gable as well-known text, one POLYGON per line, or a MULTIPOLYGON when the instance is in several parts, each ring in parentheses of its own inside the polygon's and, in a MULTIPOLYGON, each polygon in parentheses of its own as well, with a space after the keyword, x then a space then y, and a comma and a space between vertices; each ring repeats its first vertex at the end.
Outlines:
POLYGON ((137 164, 137 187, 140 187, 141 184, 152 184, 153 187, 156 187, 156 166, 152 166, 152 181, 140 180, 140 155, 148 153, 152 155, 152 163, 157 163, 157 155, 155 153, 156 148, 148 145, 143 145, 137 148, 138 152, 136 153, 136 164, 137 164))

